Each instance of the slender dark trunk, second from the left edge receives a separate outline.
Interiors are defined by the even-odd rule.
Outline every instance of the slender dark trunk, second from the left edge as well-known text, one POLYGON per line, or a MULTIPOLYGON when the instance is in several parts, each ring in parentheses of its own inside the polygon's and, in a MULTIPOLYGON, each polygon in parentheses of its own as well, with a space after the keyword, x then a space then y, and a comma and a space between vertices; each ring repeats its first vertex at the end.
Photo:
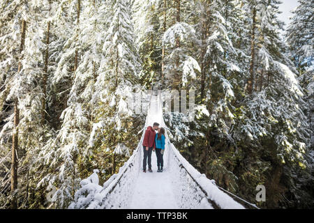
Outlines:
POLYGON ((41 100, 41 124, 45 124, 45 105, 47 98, 47 75, 48 75, 48 58, 49 58, 49 38, 50 38, 50 21, 47 23, 46 33, 46 51, 45 51, 45 67, 43 75, 43 98, 41 100))

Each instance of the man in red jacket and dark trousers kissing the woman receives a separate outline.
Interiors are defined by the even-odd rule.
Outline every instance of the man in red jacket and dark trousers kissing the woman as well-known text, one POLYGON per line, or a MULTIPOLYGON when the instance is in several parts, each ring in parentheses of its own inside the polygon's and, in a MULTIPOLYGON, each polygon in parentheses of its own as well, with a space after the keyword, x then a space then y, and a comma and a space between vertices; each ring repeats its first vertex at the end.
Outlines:
POLYGON ((147 130, 144 134, 143 139, 143 149, 144 149, 144 160, 143 160, 143 172, 146 173, 146 163, 148 162, 149 172, 152 172, 151 170, 151 151, 155 150, 155 137, 156 132, 155 130, 158 130, 158 123, 154 123, 153 127, 148 126, 147 130))

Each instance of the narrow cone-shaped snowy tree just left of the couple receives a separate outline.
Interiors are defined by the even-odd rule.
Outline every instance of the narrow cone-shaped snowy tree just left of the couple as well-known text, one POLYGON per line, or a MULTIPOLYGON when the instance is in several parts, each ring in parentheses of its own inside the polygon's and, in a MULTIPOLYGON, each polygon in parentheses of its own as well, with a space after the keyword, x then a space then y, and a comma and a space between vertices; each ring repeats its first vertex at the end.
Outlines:
POLYGON ((96 119, 89 143, 91 146, 96 144, 98 149, 112 156, 111 170, 114 174, 119 160, 117 154, 120 154, 118 147, 133 149, 131 147, 135 144, 126 141, 126 137, 131 132, 138 132, 134 125, 138 117, 128 107, 128 98, 133 96, 141 63, 134 45, 135 34, 126 1, 112 1, 110 24, 105 35, 105 61, 95 83, 94 98, 98 98, 98 106, 94 107, 96 119))

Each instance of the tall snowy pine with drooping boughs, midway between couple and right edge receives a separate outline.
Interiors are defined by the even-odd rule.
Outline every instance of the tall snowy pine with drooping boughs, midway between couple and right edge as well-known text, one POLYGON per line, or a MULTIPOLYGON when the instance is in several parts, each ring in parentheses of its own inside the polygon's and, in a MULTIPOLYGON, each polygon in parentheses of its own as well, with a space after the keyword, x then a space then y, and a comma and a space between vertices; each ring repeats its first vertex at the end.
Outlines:
MULTIPOLYGON (((241 37, 241 34, 247 33, 245 26, 241 26, 244 23, 242 13, 237 1, 202 1, 197 5, 202 73, 198 101, 206 106, 209 117, 203 114, 197 121, 200 126, 198 131, 204 132, 204 137, 197 145, 202 152, 196 157, 201 160, 205 174, 211 178, 224 176, 229 181, 225 186, 233 192, 237 187, 234 182, 237 177, 216 157, 216 146, 221 144, 215 145, 215 142, 223 139, 228 144, 235 144, 232 139, 234 106, 236 97, 243 93, 241 80, 246 74, 247 57, 246 42, 241 37)), ((223 185, 222 177, 218 178, 223 185)))

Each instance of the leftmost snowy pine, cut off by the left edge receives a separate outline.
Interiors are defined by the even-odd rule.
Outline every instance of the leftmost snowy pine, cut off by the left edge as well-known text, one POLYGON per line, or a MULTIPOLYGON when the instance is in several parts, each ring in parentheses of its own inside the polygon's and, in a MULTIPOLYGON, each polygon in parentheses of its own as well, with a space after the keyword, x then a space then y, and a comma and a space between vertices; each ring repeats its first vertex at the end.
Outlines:
MULTIPOLYGON (((7 9, 6 3, 2 5, 4 9, 7 9)), ((3 86, 5 86, 1 91, 1 107, 6 103, 9 105, 12 103, 14 113, 5 119, 6 123, 0 134, 3 148, 12 145, 11 207, 18 208, 26 205, 24 199, 27 202, 28 190, 25 193, 24 188, 29 185, 31 155, 37 147, 43 146, 40 137, 45 132, 45 127, 40 125, 40 117, 36 115, 41 107, 40 95, 43 92, 41 82, 38 80, 43 73, 44 43, 40 22, 45 9, 43 10, 33 1, 27 5, 24 2, 18 3, 16 8, 12 9, 17 13, 13 14, 13 11, 6 10, 8 14, 3 13, 4 17, 1 17, 1 22, 6 24, 7 28, 6 33, 1 37, 2 43, 6 45, 3 47, 4 59, 1 62, 3 68, 1 77, 4 77, 3 86), (13 19, 6 20, 10 17, 13 19), (20 41, 19 49, 15 48, 17 41, 20 41), (17 162, 22 166, 19 167, 17 162), (18 173, 19 177, 17 177, 18 173)))

